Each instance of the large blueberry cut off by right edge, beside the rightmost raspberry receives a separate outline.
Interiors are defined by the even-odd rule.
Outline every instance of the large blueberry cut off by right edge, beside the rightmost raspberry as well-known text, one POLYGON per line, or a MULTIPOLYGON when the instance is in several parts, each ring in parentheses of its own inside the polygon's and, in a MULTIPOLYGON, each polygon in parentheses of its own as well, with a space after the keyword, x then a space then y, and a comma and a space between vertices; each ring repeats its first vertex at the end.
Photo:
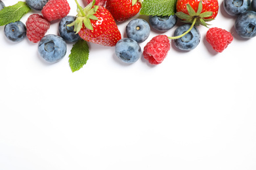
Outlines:
POLYGON ((247 10, 236 18, 234 25, 236 33, 243 38, 249 39, 256 35, 256 12, 247 10))

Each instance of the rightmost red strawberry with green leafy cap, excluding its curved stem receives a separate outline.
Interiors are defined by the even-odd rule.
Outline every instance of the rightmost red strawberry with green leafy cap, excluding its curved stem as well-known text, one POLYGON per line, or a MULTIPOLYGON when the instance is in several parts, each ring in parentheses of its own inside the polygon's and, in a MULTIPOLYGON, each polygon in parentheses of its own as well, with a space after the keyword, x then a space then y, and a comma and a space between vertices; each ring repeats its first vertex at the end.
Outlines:
POLYGON ((189 23, 207 25, 205 22, 213 20, 219 11, 218 0, 178 0, 176 15, 189 23))

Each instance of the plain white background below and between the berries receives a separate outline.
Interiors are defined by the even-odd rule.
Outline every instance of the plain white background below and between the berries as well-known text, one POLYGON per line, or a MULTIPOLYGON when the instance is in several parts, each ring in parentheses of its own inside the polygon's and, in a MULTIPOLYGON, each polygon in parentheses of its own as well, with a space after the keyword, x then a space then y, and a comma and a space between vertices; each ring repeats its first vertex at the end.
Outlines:
MULTIPOLYGON (((236 18, 219 5, 210 27, 234 36, 224 52, 211 49, 200 26, 196 49, 172 42, 155 66, 121 63, 114 47, 89 43, 87 64, 72 73, 72 44, 48 64, 37 43, 10 42, 0 27, 0 170, 255 170, 256 38, 238 37, 236 18)), ((58 34, 58 22, 47 34, 58 34)), ((123 37, 128 22, 118 24, 123 37)))

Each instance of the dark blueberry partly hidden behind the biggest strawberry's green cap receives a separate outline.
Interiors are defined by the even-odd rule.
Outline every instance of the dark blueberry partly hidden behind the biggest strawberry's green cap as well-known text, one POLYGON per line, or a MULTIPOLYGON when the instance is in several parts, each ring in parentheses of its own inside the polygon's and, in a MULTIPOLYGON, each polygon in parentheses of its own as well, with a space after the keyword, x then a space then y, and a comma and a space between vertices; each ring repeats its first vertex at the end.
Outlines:
POLYGON ((76 42, 81 39, 78 33, 75 34, 74 26, 67 26, 68 24, 74 22, 74 20, 75 16, 65 16, 60 20, 60 23, 58 24, 58 33, 60 34, 60 37, 68 42, 76 42))

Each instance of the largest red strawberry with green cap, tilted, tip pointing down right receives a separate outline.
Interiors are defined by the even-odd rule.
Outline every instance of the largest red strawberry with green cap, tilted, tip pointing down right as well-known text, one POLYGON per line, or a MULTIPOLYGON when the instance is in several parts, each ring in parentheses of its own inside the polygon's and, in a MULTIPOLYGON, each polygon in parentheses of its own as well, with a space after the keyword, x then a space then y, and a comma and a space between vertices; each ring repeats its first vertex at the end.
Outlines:
POLYGON ((95 5, 95 0, 85 9, 77 3, 77 8, 77 18, 68 26, 74 25, 75 33, 78 33, 82 39, 104 46, 115 46, 121 39, 114 18, 107 9, 95 5))

